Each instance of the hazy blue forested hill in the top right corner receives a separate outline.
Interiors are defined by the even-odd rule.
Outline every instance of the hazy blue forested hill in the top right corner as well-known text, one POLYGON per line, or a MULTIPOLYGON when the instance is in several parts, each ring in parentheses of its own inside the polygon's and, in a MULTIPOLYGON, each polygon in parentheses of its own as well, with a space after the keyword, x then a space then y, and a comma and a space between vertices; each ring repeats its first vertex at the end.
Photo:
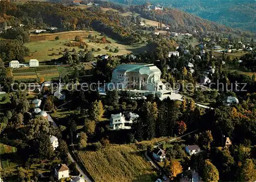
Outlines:
POLYGON ((193 13, 202 18, 225 24, 232 28, 240 28, 256 32, 255 24, 255 6, 254 0, 237 0, 237 1, 205 1, 205 0, 111 0, 112 2, 123 3, 127 5, 142 5, 150 2, 154 5, 163 5, 193 13))

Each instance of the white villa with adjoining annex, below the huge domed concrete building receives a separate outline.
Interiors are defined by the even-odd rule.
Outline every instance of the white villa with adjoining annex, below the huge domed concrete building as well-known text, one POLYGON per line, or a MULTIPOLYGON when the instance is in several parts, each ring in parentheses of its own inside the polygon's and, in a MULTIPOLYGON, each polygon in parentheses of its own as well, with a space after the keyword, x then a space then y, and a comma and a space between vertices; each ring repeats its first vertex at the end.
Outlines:
POLYGON ((138 118, 139 115, 135 113, 127 113, 124 114, 112 114, 110 118, 110 127, 115 129, 131 129, 131 124, 134 119, 138 118))

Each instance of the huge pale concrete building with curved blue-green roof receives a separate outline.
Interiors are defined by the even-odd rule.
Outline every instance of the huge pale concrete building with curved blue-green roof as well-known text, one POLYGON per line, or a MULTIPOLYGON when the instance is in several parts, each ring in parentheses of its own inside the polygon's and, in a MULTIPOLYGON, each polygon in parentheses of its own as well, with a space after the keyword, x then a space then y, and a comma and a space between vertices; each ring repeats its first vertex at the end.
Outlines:
POLYGON ((154 64, 121 64, 112 74, 112 86, 141 95, 172 94, 172 89, 160 80, 160 69, 154 64))

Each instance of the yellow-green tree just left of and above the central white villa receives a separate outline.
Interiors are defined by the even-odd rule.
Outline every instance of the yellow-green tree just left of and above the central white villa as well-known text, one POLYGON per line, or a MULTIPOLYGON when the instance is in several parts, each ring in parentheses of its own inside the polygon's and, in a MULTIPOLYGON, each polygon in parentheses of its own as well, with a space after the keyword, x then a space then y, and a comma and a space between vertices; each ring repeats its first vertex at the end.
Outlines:
POLYGON ((104 109, 103 109, 103 105, 102 105, 101 100, 99 100, 99 101, 95 100, 91 104, 91 107, 90 107, 89 110, 90 110, 90 112, 89 112, 90 118, 92 120, 99 121, 99 119, 104 114, 104 109))

